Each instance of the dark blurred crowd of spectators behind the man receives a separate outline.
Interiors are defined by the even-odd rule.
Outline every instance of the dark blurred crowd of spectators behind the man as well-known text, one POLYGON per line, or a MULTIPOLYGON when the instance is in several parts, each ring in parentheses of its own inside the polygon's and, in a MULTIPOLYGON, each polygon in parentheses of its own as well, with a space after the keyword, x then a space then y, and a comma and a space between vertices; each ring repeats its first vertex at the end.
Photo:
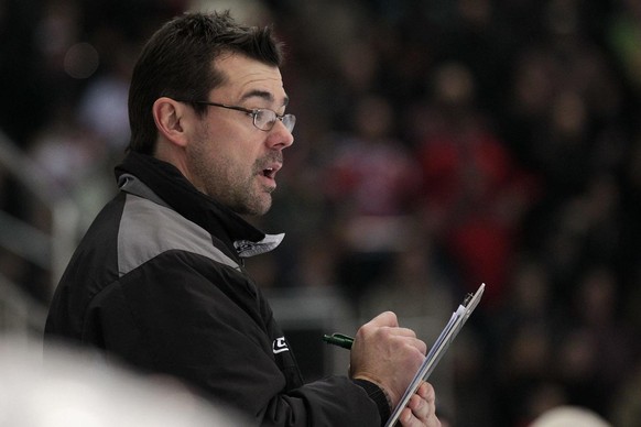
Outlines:
MULTIPOLYGON (((249 266, 358 317, 446 318, 456 426, 579 405, 640 426, 641 2, 4 0, 0 130, 82 208, 115 191, 141 43, 188 8, 274 23, 297 117, 249 266)), ((47 227, 0 169, 0 208, 47 227)), ((45 273, 3 274, 46 304, 45 273)))

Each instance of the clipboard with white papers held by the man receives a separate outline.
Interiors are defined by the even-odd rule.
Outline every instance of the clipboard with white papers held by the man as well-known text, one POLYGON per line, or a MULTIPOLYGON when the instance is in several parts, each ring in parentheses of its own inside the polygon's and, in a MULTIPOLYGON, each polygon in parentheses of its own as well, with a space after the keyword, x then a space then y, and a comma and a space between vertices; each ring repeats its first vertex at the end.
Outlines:
POLYGON ((430 375, 441 361, 441 358, 443 358, 443 354, 445 354, 445 352, 449 348, 449 344, 452 343, 454 338, 456 338, 458 332, 460 332, 463 326, 465 325, 471 313, 475 310, 475 308, 478 306, 485 288, 486 288, 485 283, 481 283, 477 292, 474 294, 468 294, 463 300, 463 303, 458 306, 456 311, 452 314, 449 321, 447 322, 447 325, 445 325, 445 328, 443 328, 443 330, 441 331, 441 335, 434 342, 434 346, 432 346, 432 348, 430 349, 430 352, 425 357, 425 360, 421 364, 421 368, 419 368, 419 371, 414 375, 414 379, 410 382, 408 388, 405 388, 403 397, 401 397, 401 401, 392 412, 392 415, 390 416, 390 419, 388 419, 385 427, 392 427, 396 423, 396 420, 401 416, 401 412, 408 405, 408 402, 410 402, 412 395, 416 393, 416 390, 419 388, 421 383, 423 383, 430 377, 430 375))

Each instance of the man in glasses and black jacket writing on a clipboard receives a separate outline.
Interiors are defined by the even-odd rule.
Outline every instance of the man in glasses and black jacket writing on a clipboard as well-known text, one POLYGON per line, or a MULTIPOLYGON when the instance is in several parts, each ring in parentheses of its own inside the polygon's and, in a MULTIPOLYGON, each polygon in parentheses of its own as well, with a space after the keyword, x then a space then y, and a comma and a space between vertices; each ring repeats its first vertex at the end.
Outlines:
MULTIPOLYGON (((350 375, 303 384, 242 259, 275 248, 239 215, 271 206, 295 118, 270 29, 185 14, 133 72, 119 195, 98 215, 53 298, 45 335, 174 375, 265 426, 384 424, 426 346, 383 313, 357 332, 350 375)), ((438 426, 422 385, 404 426, 438 426)))

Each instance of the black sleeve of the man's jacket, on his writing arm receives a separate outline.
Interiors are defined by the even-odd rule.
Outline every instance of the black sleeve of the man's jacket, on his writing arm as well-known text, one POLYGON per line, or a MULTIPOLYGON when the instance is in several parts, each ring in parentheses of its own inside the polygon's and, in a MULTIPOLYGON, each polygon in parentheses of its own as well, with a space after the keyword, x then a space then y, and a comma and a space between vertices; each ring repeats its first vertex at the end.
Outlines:
POLYGON ((100 325, 106 350, 181 379, 256 425, 380 425, 366 384, 333 376, 291 387, 239 275, 194 254, 163 254, 95 298, 90 324, 100 325))

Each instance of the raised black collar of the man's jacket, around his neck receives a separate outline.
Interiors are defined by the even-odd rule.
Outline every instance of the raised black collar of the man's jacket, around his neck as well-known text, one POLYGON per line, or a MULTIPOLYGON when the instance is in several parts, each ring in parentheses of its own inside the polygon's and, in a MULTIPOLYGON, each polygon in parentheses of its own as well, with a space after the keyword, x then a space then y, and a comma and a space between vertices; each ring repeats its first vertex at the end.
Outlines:
POLYGON ((235 256, 248 258, 276 248, 284 234, 265 234, 231 209, 200 193, 172 164, 130 152, 116 167, 121 190, 169 206, 218 238, 235 256))

